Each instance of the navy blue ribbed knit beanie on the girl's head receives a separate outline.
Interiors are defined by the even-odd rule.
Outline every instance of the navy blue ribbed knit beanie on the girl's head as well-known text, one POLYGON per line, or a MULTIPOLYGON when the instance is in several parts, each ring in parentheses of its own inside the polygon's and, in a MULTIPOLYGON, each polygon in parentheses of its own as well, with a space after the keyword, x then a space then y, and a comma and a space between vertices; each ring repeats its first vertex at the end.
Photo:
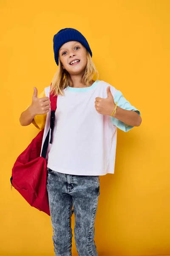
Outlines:
POLYGON ((54 58, 57 66, 58 66, 59 49, 63 44, 69 41, 77 41, 81 43, 89 51, 92 57, 92 52, 88 44, 88 41, 77 29, 71 29, 71 28, 61 29, 56 35, 54 35, 54 38, 53 38, 54 58))

